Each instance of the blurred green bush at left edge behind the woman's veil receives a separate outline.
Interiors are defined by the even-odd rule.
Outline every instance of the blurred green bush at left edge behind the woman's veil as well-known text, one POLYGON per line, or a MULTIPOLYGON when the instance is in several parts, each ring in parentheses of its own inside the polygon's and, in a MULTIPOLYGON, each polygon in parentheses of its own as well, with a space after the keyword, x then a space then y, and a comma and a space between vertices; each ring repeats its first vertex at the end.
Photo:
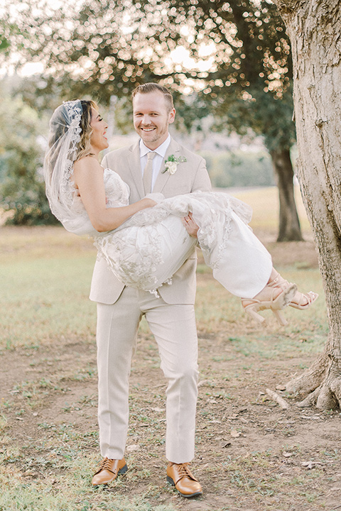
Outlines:
POLYGON ((11 211, 7 223, 55 224, 42 175, 42 121, 21 99, 9 96, 1 101, 0 116, 0 207, 11 211))

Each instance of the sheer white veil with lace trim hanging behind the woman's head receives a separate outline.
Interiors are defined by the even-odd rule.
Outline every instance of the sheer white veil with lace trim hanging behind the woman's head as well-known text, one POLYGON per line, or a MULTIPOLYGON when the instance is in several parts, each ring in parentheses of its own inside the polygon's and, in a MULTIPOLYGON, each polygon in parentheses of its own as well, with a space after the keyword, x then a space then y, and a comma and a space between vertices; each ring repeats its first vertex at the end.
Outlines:
POLYGON ((55 109, 50 119, 48 148, 44 160, 46 196, 50 209, 67 231, 76 234, 94 231, 70 180, 82 132, 81 116, 80 99, 65 101, 55 109))

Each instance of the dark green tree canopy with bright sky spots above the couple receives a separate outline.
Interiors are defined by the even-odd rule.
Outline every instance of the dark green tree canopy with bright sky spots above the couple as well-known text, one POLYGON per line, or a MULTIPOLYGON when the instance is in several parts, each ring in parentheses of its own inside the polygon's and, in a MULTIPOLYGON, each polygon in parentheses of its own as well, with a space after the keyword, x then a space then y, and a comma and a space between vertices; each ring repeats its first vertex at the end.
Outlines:
MULTIPOLYGON (((217 129, 251 127, 269 150, 293 145, 291 50, 273 3, 85 0, 81 9, 66 2, 61 9, 40 4, 39 16, 32 9, 26 4, 16 17, 21 33, 11 44, 23 62, 45 65, 47 72, 33 78, 39 101, 58 89, 62 99, 90 95, 109 105, 138 83, 161 81, 173 89, 187 130, 213 114, 217 129), (191 68, 172 61, 178 46, 193 58, 191 68), (205 71, 202 48, 212 53, 205 71), (183 99, 185 87, 196 94, 183 99)), ((24 94, 32 105, 29 88, 24 94)))

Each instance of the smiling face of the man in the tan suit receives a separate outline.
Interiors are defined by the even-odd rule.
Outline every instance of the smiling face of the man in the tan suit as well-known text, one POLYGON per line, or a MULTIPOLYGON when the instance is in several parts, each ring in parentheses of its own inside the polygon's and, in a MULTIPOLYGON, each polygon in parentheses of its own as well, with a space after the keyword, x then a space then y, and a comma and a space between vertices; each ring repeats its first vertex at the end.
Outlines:
POLYGON ((134 128, 146 146, 155 150, 168 137, 168 125, 174 122, 175 109, 170 109, 162 92, 136 94, 133 99, 134 128))

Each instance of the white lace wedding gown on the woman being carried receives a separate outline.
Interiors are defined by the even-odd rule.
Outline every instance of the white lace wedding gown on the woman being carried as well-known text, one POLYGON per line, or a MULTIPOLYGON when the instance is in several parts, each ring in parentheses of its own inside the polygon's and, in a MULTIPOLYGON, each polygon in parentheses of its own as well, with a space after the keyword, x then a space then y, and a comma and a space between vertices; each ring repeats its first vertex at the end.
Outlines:
MULTIPOLYGON (((104 170, 104 187, 107 207, 129 204, 129 187, 117 172, 104 170)), ((171 285, 172 275, 197 242, 181 221, 192 211, 200 226, 197 240, 213 276, 239 297, 254 297, 263 289, 271 273, 271 256, 247 226, 251 220, 247 204, 223 192, 149 197, 161 202, 107 233, 95 231, 80 197, 72 205, 75 214, 84 216, 82 229, 73 232, 94 236, 99 257, 107 260, 121 282, 154 293, 163 284, 171 285)))

